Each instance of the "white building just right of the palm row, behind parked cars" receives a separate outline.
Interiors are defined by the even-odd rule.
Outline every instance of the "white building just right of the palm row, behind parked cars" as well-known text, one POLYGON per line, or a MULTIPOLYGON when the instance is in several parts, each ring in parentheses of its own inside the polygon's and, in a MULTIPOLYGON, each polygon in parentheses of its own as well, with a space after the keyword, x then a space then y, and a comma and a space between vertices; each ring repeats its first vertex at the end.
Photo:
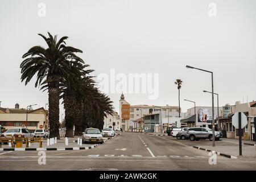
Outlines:
POLYGON ((113 130, 121 129, 121 121, 117 112, 113 112, 112 115, 106 114, 104 117, 104 128, 111 127, 113 130))

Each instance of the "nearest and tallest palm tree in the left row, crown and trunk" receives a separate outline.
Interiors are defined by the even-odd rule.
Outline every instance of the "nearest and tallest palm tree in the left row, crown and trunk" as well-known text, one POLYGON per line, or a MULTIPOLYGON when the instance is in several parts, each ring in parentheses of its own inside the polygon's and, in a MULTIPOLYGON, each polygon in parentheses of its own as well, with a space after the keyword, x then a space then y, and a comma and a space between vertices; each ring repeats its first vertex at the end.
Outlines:
POLYGON ((36 75, 35 87, 47 83, 48 103, 49 103, 49 137, 59 136, 59 100, 60 82, 63 78, 79 75, 82 59, 75 53, 82 51, 77 48, 66 46, 64 36, 57 41, 57 35, 53 36, 48 32, 48 38, 41 36, 47 43, 47 48, 34 46, 25 53, 20 64, 21 80, 27 85, 31 78, 36 75), (76 65, 76 67, 72 67, 76 65))

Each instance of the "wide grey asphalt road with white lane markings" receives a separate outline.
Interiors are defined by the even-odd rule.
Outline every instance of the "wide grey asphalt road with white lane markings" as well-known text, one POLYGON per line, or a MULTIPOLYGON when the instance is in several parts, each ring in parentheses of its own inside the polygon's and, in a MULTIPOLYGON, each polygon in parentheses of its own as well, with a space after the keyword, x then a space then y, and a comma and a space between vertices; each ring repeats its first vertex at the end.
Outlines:
POLYGON ((38 151, 1 151, 0 170, 256 169, 256 159, 229 159, 218 155, 217 164, 210 165, 209 152, 192 148, 189 143, 168 136, 122 133, 90 150, 45 151, 46 164, 38 163, 38 151))

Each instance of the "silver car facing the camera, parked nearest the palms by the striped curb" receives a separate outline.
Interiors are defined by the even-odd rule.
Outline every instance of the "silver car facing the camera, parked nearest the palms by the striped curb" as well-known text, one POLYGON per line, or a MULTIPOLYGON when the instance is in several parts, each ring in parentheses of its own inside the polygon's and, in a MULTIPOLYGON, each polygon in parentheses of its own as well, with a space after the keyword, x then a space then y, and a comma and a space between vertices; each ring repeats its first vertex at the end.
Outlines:
POLYGON ((89 128, 82 133, 82 143, 97 142, 103 143, 103 137, 99 129, 89 128))

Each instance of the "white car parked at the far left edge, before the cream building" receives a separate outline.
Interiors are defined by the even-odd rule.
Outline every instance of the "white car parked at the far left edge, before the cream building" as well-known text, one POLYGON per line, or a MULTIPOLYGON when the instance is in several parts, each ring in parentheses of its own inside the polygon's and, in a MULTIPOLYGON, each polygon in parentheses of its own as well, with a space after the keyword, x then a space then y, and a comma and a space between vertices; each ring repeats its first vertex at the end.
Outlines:
POLYGON ((16 127, 7 130, 1 137, 35 137, 35 134, 26 128, 16 127))

